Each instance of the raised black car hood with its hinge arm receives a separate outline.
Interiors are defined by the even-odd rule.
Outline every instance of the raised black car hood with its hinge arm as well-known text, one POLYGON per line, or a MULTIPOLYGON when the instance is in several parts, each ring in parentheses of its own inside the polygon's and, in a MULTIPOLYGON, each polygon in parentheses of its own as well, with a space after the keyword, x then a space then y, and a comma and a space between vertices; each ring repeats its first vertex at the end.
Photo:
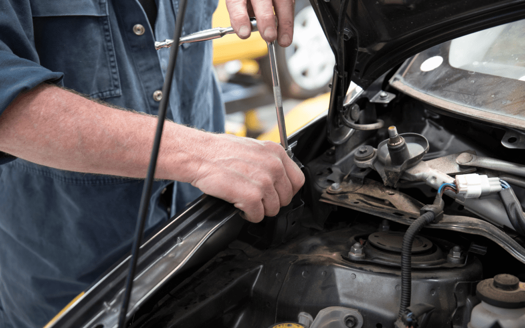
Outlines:
POLYGON ((405 59, 445 41, 525 17, 525 0, 310 0, 335 55, 327 136, 344 143, 340 122, 353 81, 372 98, 373 82, 405 59))

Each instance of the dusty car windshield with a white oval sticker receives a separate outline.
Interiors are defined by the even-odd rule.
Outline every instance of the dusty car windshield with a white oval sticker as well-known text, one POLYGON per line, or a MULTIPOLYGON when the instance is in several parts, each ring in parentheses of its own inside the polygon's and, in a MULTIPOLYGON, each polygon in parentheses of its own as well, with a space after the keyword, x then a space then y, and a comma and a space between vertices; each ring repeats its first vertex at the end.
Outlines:
POLYGON ((429 48, 390 84, 472 121, 525 131, 525 20, 429 48))

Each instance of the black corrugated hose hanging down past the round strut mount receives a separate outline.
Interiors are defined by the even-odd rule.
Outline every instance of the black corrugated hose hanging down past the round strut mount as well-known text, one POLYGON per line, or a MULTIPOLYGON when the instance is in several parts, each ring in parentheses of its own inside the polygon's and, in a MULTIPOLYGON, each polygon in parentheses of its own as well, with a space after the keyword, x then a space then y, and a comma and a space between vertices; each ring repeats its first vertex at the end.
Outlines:
POLYGON ((401 305, 399 308, 399 317, 405 314, 406 309, 410 306, 412 293, 412 244, 419 230, 434 221, 435 213, 440 213, 445 207, 443 198, 438 193, 434 204, 430 206, 432 210, 427 211, 419 216, 406 230, 403 236, 403 245, 401 247, 401 305))

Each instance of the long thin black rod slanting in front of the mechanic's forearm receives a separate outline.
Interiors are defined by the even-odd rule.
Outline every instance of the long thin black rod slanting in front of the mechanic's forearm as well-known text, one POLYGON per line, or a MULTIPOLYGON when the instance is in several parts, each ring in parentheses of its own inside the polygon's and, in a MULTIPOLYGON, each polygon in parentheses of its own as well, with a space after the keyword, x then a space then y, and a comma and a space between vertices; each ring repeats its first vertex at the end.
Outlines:
POLYGON ((153 177, 155 175, 155 166, 157 164, 157 157, 159 156, 159 148, 161 143, 162 130, 164 128, 164 121, 166 119, 166 110, 168 99, 170 97, 171 83, 173 80, 173 72, 175 70, 175 62, 178 55, 178 40, 182 34, 182 24, 184 23, 184 13, 186 11, 187 0, 181 0, 178 13, 176 17, 175 33, 173 36, 174 46, 171 47, 170 61, 166 70, 166 77, 164 79, 164 85, 162 86, 163 97, 159 104, 159 121, 155 131, 155 139, 153 141, 153 149, 151 151, 150 164, 148 166, 148 174, 144 181, 144 188, 142 189, 142 196, 140 199, 139 217, 137 219, 137 227, 135 228, 135 236, 133 238, 133 246, 131 249, 131 259, 128 272, 128 278, 125 284, 125 290, 122 300, 122 307, 119 314, 119 328, 123 328, 126 321, 126 314, 128 313, 128 306, 131 297, 131 290, 133 288, 133 278, 135 276, 135 270, 137 269, 137 260, 139 258, 139 249, 142 242, 142 234, 144 232, 144 224, 146 222, 146 216, 148 214, 148 205, 151 198, 151 189, 153 187, 153 177))

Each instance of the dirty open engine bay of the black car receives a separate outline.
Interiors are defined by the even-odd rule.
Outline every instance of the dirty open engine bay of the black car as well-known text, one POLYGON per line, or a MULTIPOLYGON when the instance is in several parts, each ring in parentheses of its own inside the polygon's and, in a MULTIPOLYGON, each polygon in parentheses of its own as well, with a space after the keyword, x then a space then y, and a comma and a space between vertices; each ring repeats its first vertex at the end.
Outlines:
MULTIPOLYGON (((525 178, 505 166, 521 168, 522 151, 502 145, 506 131, 498 126, 445 115, 386 81, 382 87, 395 95, 391 101, 374 103, 371 96, 353 101, 366 109, 361 124, 382 120, 383 128, 356 130, 348 142, 333 146, 320 137, 325 122, 311 124, 294 144, 307 176, 301 194, 278 216, 246 224, 226 249, 170 282, 141 307, 131 326, 525 326, 522 221, 519 215, 509 219, 498 195, 508 190, 500 184, 506 179, 516 199, 525 200, 525 178), (388 153, 387 126, 404 137, 405 157, 388 153), (475 158, 496 164, 461 165, 475 158), (400 168, 406 161, 412 162, 400 168), (493 190, 481 188, 474 198, 472 188, 470 194, 458 192, 458 177, 473 173, 496 181, 493 190), (454 188, 442 190, 444 183, 454 188), (409 250, 412 291, 408 316, 400 321, 403 238, 441 192, 443 213, 417 232, 409 250), (480 281, 492 286, 498 279, 518 283, 488 297, 477 291, 480 281), (506 292, 517 295, 514 303, 494 301, 506 292), (488 317, 480 316, 475 310, 480 304, 503 312, 491 309, 488 317)), ((346 108, 350 118, 351 107, 346 108)), ((513 204, 521 212, 520 203, 513 204)))

